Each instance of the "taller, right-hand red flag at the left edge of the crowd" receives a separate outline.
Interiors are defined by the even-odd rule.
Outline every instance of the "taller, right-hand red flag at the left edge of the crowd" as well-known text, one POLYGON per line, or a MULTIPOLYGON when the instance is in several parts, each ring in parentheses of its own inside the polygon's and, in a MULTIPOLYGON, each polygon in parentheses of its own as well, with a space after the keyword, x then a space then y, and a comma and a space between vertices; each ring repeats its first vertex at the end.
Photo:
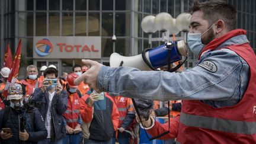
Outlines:
POLYGON ((21 59, 21 40, 18 43, 18 48, 16 50, 14 61, 11 66, 11 72, 9 73, 7 82, 5 84, 5 89, 3 92, 3 95, 5 98, 7 98, 7 89, 9 87, 9 84, 17 81, 18 72, 20 70, 20 59, 21 59))

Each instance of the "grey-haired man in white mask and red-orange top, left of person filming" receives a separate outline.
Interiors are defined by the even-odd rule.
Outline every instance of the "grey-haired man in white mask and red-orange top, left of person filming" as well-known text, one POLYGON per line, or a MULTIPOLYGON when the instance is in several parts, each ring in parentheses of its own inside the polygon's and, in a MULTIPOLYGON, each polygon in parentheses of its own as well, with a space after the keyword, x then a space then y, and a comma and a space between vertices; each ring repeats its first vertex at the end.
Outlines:
POLYGON ((25 101, 27 101, 29 95, 33 94, 34 89, 42 87, 42 83, 37 79, 37 75, 38 71, 36 66, 27 66, 27 78, 21 80, 21 83, 25 87, 25 101))

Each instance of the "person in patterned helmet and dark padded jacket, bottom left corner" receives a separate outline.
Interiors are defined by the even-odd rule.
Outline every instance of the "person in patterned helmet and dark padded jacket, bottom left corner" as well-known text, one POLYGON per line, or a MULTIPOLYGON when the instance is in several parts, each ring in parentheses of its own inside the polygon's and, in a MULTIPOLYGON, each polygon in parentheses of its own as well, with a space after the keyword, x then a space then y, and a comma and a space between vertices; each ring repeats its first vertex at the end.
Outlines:
POLYGON ((7 100, 11 101, 11 106, 0 111, 1 143, 37 143, 45 139, 47 130, 41 114, 33 107, 31 113, 27 112, 22 103, 24 95, 20 84, 9 85, 7 100))

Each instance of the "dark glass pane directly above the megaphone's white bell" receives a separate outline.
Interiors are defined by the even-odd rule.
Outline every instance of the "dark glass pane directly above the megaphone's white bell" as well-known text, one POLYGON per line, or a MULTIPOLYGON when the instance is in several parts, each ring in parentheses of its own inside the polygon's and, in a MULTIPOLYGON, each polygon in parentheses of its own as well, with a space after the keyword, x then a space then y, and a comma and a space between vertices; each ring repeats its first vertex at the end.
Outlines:
POLYGON ((116 53, 119 53, 121 56, 131 56, 129 38, 116 40, 116 53))

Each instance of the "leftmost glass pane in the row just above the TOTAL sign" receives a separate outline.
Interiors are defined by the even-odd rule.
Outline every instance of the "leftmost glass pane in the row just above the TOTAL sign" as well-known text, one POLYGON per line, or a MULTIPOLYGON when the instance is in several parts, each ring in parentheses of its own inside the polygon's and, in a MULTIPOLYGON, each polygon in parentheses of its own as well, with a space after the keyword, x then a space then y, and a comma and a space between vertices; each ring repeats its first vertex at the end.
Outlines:
POLYGON ((33 12, 18 13, 19 36, 33 36, 33 12))

